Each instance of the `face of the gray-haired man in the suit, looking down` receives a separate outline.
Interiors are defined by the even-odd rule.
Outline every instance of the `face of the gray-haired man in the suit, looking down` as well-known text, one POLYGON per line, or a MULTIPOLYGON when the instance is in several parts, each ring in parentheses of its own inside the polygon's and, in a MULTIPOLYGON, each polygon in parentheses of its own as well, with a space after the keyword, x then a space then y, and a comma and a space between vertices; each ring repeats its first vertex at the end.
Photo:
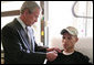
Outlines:
POLYGON ((40 14, 40 9, 35 9, 34 12, 29 13, 29 11, 25 13, 25 24, 31 26, 32 24, 34 24, 34 22, 38 21, 40 14))

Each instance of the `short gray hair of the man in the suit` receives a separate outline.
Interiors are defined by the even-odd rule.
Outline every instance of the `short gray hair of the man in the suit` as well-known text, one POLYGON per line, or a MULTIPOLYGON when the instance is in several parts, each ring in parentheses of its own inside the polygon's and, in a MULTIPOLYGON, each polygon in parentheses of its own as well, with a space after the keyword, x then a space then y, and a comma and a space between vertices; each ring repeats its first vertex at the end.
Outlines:
POLYGON ((39 4, 35 1, 25 1, 21 7, 20 13, 22 14, 25 9, 29 9, 29 13, 32 13, 35 8, 40 9, 39 4))

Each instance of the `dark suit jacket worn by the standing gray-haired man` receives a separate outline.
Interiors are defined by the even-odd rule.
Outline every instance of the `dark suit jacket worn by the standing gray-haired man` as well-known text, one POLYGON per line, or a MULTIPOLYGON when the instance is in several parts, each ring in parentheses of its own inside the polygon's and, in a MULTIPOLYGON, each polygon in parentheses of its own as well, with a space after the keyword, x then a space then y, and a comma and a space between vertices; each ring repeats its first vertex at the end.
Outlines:
POLYGON ((35 53, 33 53, 27 34, 17 19, 2 29, 1 39, 6 64, 43 64, 45 47, 38 46, 35 43, 35 53))

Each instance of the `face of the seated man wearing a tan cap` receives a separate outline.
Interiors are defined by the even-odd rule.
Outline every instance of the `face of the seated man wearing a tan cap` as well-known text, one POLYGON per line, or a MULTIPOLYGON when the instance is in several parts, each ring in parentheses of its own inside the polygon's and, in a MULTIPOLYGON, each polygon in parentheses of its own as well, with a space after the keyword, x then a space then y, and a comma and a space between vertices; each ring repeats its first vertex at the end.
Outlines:
POLYGON ((69 33, 64 33, 62 36, 62 43, 64 50, 71 50, 74 48, 74 44, 77 42, 77 37, 72 36, 69 33))

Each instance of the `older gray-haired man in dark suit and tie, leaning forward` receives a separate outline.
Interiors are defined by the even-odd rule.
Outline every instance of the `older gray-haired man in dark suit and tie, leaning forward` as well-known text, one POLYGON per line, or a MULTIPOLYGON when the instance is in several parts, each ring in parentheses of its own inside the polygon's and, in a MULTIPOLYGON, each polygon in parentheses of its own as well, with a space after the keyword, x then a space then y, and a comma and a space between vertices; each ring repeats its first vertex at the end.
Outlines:
POLYGON ((1 31, 6 64, 43 64, 44 59, 54 61, 59 48, 38 46, 31 28, 38 21, 40 7, 25 1, 20 17, 7 24, 1 31))

